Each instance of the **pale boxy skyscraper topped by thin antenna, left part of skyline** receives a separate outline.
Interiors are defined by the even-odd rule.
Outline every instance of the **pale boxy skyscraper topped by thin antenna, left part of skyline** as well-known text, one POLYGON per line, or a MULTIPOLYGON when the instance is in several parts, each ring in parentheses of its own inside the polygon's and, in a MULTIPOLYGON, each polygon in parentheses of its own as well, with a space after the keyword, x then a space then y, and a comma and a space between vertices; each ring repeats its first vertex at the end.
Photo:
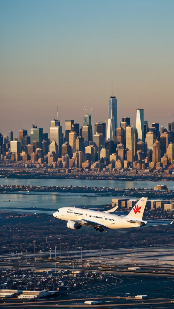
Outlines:
POLYGON ((60 121, 54 119, 50 126, 50 143, 55 141, 58 146, 58 158, 62 157, 62 127, 60 121))

